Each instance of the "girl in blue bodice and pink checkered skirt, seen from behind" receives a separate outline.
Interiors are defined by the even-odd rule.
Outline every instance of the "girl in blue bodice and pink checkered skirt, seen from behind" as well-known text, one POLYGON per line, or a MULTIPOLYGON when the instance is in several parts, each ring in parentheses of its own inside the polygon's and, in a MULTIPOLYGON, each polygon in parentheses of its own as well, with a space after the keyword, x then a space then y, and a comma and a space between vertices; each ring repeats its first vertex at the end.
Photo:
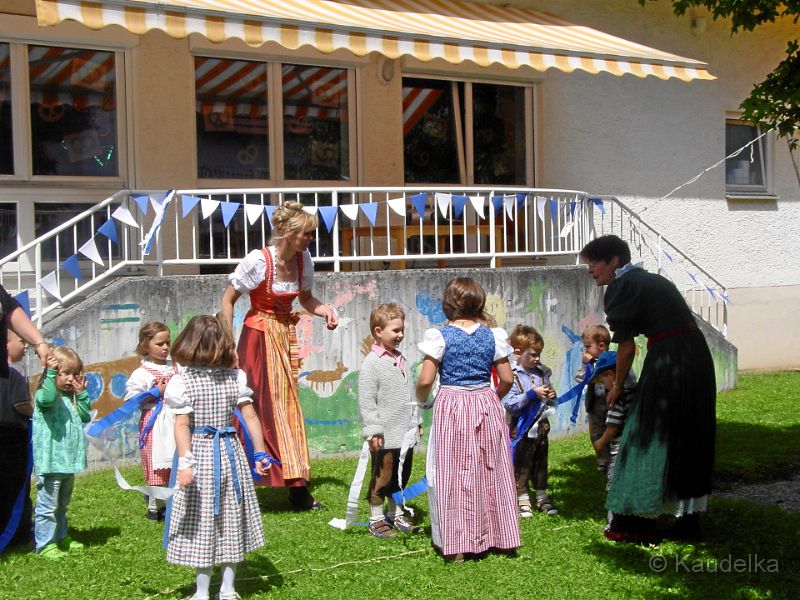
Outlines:
POLYGON ((432 542, 454 562, 520 544, 510 440, 498 397, 511 388, 511 349, 505 331, 485 325, 485 304, 476 281, 452 279, 442 300, 448 324, 428 329, 419 344, 425 359, 417 401, 427 402, 437 372, 440 382, 426 468, 432 542), (497 391, 490 385, 493 365, 497 391))

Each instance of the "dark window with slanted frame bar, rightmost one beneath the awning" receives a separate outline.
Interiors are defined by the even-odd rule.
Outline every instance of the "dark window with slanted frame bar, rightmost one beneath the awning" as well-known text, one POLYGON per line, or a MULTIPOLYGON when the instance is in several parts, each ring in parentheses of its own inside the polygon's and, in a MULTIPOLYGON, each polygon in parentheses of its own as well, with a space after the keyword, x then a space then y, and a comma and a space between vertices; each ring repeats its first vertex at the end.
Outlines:
POLYGON ((406 183, 532 185, 529 106, 530 87, 404 78, 406 183))

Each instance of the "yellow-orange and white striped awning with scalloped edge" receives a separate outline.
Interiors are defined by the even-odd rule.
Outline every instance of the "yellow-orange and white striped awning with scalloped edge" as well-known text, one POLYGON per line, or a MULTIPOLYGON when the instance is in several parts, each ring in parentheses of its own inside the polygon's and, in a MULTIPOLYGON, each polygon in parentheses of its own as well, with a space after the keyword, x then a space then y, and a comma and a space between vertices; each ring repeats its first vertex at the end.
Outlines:
POLYGON ((457 0, 36 0, 40 25, 79 21, 173 37, 200 33, 213 42, 240 38, 358 56, 379 52, 458 64, 472 61, 536 71, 714 79, 706 64, 661 52, 532 10, 457 0))

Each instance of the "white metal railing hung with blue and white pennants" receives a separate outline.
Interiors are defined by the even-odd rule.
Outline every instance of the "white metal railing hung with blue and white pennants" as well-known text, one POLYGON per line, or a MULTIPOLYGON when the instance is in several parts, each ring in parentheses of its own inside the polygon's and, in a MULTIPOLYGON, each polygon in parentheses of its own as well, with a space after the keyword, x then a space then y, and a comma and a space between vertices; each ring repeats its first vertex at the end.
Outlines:
POLYGON ((576 190, 123 190, 0 259, 0 283, 12 291, 32 290, 34 318, 41 324, 51 311, 119 274, 163 274, 169 265, 234 265, 268 243, 271 211, 289 200, 318 215, 312 258, 319 269, 335 271, 499 267, 539 257, 571 262, 596 235, 616 233, 648 268, 672 279, 695 312, 725 333, 727 295, 721 284, 616 198, 590 198, 576 190))

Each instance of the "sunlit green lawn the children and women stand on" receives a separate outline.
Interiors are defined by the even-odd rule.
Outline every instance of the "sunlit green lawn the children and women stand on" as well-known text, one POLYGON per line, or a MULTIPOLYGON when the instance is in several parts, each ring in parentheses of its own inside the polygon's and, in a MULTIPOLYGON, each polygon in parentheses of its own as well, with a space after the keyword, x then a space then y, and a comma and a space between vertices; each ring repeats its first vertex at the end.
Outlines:
MULTIPOLYGON (((800 464, 800 373, 742 375, 718 402, 718 485, 753 482, 800 464)), ((316 496, 329 510, 293 513, 284 494, 259 490, 267 545, 240 567, 244 598, 792 598, 800 589, 800 515, 712 498, 697 545, 618 545, 601 534, 604 481, 585 435, 551 445, 552 496, 561 514, 522 522, 516 558, 445 564, 427 535, 378 540, 343 516, 355 458, 314 462, 316 496)), ((415 476, 421 476, 418 456, 415 476)), ((125 470, 133 482, 137 468, 125 470)), ((426 523, 424 496, 412 502, 426 523)), ((362 507, 366 519, 366 507, 362 507)), ((194 572, 170 565, 162 525, 111 472, 79 477, 70 506, 86 550, 59 562, 30 553, 0 557, 0 598, 182 598, 194 572)), ((218 581, 212 583, 216 591, 218 581)))

